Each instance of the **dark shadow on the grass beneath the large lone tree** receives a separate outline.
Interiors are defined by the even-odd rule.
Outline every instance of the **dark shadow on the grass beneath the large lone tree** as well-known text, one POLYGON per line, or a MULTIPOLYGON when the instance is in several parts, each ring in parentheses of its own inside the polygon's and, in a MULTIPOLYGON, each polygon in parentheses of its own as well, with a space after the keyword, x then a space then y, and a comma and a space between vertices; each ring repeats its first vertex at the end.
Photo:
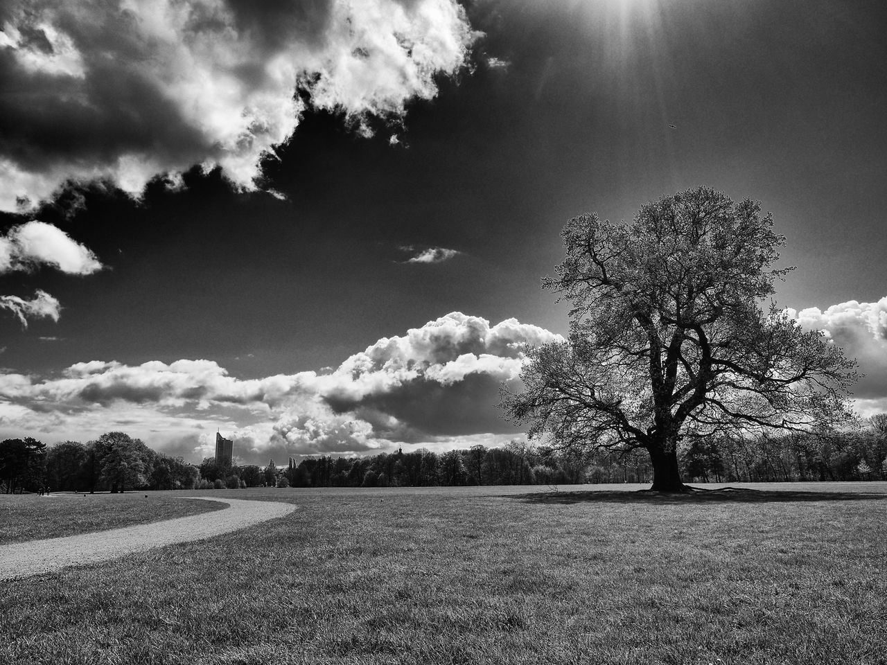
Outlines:
POLYGON ((585 492, 538 492, 514 498, 528 504, 768 504, 816 501, 877 501, 887 500, 882 492, 831 492, 793 489, 749 488, 694 488, 684 494, 654 492, 651 489, 635 491, 589 489, 585 492))

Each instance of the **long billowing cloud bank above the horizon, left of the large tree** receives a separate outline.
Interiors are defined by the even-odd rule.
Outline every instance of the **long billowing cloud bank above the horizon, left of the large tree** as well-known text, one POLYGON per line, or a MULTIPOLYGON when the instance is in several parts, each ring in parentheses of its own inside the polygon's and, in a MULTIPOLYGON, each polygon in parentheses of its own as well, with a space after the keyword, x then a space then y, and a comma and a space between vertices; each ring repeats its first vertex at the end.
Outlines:
MULTIPOLYGON (((176 431, 181 442, 187 439, 181 423, 194 427, 209 420, 226 431, 249 426, 243 445, 251 458, 503 434, 512 429, 495 407, 500 382, 516 379, 525 345, 558 339, 514 318, 490 325, 451 312, 382 338, 327 372, 237 379, 215 361, 179 360, 90 361, 53 377, 6 373, 0 374, 0 430, 12 422, 83 426, 98 412, 138 413, 140 422, 153 414, 158 425, 132 434, 150 442, 153 429, 176 431), (180 419, 179 426, 169 425, 173 419, 180 419)), ((192 450, 204 444, 209 442, 192 450)))

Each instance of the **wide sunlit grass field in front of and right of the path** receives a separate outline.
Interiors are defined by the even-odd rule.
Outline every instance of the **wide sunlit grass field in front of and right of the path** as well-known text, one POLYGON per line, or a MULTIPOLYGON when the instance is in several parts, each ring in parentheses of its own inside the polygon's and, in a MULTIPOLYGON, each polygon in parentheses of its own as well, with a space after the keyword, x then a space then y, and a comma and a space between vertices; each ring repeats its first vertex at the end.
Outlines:
POLYGON ((0 583, 0 662, 887 661, 887 485, 759 487, 206 492, 300 510, 0 583))

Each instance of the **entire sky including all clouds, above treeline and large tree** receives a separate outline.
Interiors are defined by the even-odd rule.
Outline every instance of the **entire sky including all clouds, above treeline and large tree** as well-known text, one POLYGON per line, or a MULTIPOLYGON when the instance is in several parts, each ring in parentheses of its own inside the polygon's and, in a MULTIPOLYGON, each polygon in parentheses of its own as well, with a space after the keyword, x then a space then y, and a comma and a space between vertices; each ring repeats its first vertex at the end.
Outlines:
POLYGON ((812 0, 12 0, 0 436, 197 462, 475 443, 569 218, 760 201, 776 301, 887 411, 887 10, 812 0))

